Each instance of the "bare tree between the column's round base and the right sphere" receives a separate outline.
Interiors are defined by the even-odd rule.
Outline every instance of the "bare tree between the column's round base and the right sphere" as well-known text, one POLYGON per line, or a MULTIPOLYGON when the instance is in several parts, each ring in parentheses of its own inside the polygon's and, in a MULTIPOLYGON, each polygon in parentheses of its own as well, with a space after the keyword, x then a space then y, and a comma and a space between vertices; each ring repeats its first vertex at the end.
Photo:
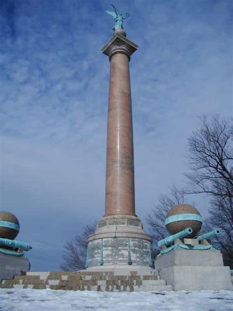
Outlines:
POLYGON ((169 235, 165 227, 165 218, 168 211, 177 204, 184 203, 185 194, 183 189, 177 189, 175 186, 170 188, 169 194, 160 194, 158 203, 151 209, 146 217, 149 231, 153 236, 154 253, 158 252, 157 242, 169 235))

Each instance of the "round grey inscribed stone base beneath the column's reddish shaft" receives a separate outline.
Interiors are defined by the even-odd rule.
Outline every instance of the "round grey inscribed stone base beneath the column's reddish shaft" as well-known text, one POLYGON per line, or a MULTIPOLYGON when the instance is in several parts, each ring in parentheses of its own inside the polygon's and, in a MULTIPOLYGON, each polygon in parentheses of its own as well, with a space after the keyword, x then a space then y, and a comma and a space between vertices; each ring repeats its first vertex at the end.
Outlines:
POLYGON ((88 237, 87 269, 153 267, 152 237, 139 218, 128 215, 101 219, 88 237))

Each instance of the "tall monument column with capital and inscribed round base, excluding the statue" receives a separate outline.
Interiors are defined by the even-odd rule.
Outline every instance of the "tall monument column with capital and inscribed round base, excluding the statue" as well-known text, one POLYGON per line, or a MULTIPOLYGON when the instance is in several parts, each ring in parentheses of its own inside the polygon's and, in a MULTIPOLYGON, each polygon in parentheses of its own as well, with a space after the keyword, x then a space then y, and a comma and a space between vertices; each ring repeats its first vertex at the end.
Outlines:
POLYGON ((153 267, 152 237, 135 215, 129 61, 137 45, 115 31, 102 52, 110 59, 105 215, 88 237, 87 269, 153 267))

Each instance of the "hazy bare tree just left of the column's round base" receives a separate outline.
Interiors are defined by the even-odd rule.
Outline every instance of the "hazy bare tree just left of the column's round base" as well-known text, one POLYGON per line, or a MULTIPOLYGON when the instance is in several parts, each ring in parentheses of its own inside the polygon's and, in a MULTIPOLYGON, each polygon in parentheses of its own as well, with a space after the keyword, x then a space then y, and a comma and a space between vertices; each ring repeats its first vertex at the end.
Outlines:
POLYGON ((80 235, 76 235, 72 241, 63 246, 63 263, 60 265, 62 271, 86 269, 87 238, 94 233, 96 224, 97 221, 91 225, 86 225, 80 235))

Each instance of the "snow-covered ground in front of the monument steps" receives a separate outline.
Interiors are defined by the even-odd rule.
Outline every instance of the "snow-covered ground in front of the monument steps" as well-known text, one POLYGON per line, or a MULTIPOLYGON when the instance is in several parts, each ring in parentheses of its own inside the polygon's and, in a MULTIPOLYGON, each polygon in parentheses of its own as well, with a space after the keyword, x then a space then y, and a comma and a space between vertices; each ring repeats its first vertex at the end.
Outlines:
POLYGON ((233 291, 94 292, 0 289, 1 311, 232 311, 233 291))

